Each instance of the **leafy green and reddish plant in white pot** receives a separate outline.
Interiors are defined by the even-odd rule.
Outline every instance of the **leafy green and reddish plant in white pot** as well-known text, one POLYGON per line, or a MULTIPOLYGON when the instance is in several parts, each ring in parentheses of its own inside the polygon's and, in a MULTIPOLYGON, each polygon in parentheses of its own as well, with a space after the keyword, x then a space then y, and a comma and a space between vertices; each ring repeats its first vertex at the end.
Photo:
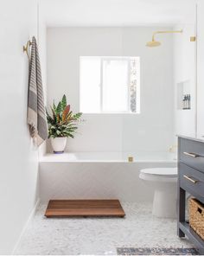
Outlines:
POLYGON ((78 129, 77 122, 82 113, 73 114, 70 111, 70 105, 67 105, 66 95, 63 95, 57 106, 53 103, 50 106, 52 114, 47 113, 48 120, 48 138, 51 138, 51 144, 55 154, 63 153, 67 144, 67 138, 74 138, 74 133, 78 129))

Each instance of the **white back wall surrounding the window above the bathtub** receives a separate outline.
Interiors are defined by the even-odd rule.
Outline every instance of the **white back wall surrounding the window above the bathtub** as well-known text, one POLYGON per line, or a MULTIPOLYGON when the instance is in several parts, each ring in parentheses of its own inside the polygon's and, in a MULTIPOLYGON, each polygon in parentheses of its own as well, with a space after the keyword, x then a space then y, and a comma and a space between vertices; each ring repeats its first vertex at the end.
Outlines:
MULTIPOLYGON (((84 114, 79 134, 68 139, 72 151, 168 150, 173 139, 172 35, 147 48, 154 30, 167 28, 49 28, 48 105, 66 93, 79 111, 80 55, 141 57, 141 113, 84 114)), ((92 92, 90 92, 92 93, 92 92)))

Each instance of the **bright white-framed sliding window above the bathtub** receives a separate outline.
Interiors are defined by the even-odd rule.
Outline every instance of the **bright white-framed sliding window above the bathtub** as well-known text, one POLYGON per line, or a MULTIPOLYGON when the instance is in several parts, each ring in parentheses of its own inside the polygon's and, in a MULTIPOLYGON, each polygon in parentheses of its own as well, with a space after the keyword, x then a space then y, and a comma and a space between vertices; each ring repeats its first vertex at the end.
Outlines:
POLYGON ((138 113, 139 57, 80 57, 80 112, 138 113))

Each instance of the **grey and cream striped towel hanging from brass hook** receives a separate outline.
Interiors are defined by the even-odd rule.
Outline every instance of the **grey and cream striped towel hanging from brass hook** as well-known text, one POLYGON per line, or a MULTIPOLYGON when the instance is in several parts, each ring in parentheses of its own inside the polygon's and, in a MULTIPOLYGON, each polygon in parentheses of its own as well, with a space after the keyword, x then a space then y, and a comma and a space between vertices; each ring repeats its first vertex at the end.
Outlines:
POLYGON ((29 99, 28 119, 29 133, 38 146, 48 138, 48 125, 44 106, 41 83, 41 64, 35 37, 32 38, 31 57, 29 61, 29 99))

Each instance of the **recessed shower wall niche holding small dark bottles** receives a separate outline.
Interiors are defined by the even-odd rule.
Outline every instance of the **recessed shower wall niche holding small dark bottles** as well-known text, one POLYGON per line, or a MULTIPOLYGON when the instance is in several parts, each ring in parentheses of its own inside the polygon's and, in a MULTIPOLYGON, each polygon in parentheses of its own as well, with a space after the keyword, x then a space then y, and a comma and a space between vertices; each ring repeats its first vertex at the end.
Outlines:
POLYGON ((177 83, 177 109, 190 110, 191 109, 191 93, 190 80, 185 80, 177 83))

